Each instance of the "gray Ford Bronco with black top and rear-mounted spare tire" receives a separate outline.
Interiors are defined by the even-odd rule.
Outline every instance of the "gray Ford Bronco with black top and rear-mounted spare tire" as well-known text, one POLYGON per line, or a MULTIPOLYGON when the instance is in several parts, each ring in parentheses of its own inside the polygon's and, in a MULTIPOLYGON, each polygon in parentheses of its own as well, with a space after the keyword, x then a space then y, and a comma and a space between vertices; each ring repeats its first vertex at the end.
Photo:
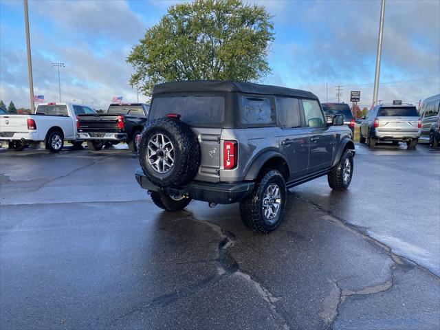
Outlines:
POLYGON ((327 123, 309 91, 211 80, 156 85, 137 154, 137 182, 159 208, 239 202, 243 223, 265 233, 288 188, 327 175, 346 190, 355 146, 344 117, 327 123))

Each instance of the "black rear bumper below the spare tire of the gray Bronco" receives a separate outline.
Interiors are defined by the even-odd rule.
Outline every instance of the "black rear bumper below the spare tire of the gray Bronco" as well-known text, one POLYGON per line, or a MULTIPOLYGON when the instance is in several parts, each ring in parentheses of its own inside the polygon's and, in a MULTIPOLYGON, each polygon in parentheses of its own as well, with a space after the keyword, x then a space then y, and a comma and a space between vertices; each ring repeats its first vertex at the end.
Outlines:
POLYGON ((209 203, 218 204, 230 204, 241 201, 254 190, 254 182, 252 181, 218 182, 216 184, 192 181, 187 186, 180 188, 159 188, 144 175, 142 168, 137 168, 135 177, 137 183, 146 190, 163 191, 170 195, 184 195, 197 201, 208 201, 209 203))

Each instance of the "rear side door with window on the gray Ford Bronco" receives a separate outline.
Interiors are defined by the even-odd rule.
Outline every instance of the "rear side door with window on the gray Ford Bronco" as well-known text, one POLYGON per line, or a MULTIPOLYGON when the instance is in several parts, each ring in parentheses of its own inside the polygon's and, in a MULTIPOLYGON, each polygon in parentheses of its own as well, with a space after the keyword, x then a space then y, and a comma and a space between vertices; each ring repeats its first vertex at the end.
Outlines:
POLYGON ((290 179, 303 177, 309 165, 309 132, 301 118, 300 100, 277 96, 276 117, 282 130, 280 150, 289 162, 290 179))

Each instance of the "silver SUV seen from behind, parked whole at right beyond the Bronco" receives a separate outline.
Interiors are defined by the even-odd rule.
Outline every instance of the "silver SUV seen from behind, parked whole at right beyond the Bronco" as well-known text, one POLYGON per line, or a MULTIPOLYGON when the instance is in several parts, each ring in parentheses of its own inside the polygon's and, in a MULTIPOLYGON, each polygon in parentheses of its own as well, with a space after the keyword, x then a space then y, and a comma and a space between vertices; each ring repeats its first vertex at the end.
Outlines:
POLYGON ((360 142, 369 147, 379 141, 398 144, 406 142, 415 148, 421 133, 421 119, 411 104, 380 104, 374 107, 360 123, 360 142))

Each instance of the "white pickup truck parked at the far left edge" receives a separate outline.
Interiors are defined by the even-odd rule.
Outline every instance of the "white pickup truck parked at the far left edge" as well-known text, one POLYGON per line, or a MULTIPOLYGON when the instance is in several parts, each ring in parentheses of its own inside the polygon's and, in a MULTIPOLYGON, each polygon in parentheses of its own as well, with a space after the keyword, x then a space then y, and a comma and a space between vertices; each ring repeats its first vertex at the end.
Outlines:
POLYGON ((0 115, 0 142, 17 151, 29 144, 43 142, 52 153, 61 151, 64 141, 79 145, 78 115, 96 113, 85 104, 41 103, 34 114, 0 115))

